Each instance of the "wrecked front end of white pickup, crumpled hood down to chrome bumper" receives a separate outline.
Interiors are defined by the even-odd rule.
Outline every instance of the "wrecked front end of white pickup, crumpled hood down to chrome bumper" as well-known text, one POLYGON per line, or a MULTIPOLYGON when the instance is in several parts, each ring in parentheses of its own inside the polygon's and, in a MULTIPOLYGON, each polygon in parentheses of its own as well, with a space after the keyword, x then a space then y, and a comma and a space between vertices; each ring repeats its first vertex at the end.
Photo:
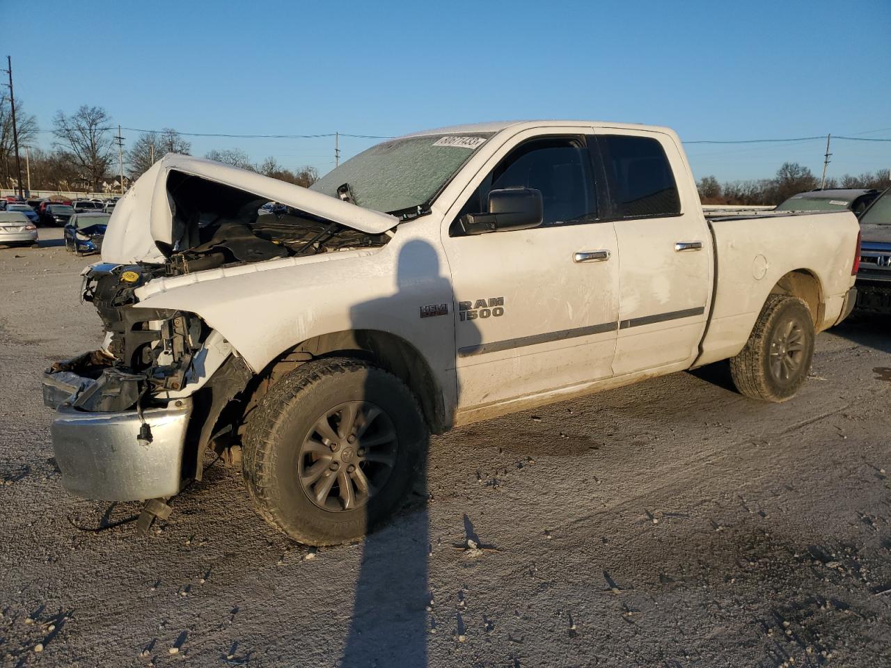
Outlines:
POLYGON ((397 223, 208 160, 168 154, 155 163, 115 207, 102 264, 84 273, 83 299, 107 332, 102 348, 45 373, 62 485, 89 499, 168 498, 200 479, 209 445, 237 443, 254 372, 198 314, 152 307, 153 295, 189 274, 210 281, 243 273, 239 265, 260 272, 319 254, 370 254, 397 223), (282 206, 260 215, 269 201, 282 206))

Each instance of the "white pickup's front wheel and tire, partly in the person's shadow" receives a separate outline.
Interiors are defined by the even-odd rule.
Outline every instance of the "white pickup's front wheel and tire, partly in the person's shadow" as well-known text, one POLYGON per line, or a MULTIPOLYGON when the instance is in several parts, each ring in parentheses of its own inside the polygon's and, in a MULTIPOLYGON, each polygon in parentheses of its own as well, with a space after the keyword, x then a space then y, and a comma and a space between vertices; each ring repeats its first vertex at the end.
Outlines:
POLYGON ((355 541, 403 500, 427 426, 396 376, 350 358, 303 364, 249 420, 241 471, 266 521, 295 541, 355 541))

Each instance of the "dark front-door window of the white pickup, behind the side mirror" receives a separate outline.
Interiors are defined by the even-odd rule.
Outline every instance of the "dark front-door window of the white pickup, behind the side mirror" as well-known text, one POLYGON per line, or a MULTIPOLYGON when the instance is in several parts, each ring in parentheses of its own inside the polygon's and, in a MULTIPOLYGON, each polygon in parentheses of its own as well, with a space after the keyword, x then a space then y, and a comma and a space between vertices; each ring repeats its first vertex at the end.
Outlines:
POLYGON ((582 138, 549 137, 530 140, 511 151, 480 183, 449 231, 461 236, 457 219, 488 211, 489 192, 505 188, 541 191, 542 227, 591 223, 597 220, 597 197, 588 150, 582 138))

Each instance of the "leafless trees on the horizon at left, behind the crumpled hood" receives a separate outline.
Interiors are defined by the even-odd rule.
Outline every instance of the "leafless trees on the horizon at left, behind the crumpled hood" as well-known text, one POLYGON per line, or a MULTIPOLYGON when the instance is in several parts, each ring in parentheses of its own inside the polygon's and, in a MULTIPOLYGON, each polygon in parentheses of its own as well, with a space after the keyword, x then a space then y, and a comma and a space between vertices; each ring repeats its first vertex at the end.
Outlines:
MULTIPOLYGON (((53 146, 37 146, 37 118, 15 101, 15 115, 19 134, 22 187, 28 187, 27 163, 30 167, 30 188, 51 191, 118 191, 119 156, 114 143, 111 118, 102 107, 82 105, 72 114, 58 111, 53 118, 53 146)), ((140 134, 124 155, 125 185, 161 159, 166 153, 191 155, 192 143, 172 128, 161 132, 140 134)), ((315 167, 296 170, 282 167, 274 157, 254 164, 240 149, 209 151, 208 159, 225 162, 235 167, 272 176, 273 178, 309 186, 319 175, 315 167)), ((12 139, 12 108, 8 97, 0 98, 0 187, 15 189, 18 169, 12 139)))

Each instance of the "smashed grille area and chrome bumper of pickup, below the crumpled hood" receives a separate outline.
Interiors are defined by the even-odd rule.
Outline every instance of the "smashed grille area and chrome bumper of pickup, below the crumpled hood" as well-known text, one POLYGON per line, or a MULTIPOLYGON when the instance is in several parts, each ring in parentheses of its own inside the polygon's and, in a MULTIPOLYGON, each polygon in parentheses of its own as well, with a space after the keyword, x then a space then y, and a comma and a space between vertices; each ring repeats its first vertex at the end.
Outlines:
MULTIPOLYGON (((209 417, 208 402, 196 401, 196 392, 211 394, 211 376, 223 366, 228 371, 218 375, 235 380, 232 387, 250 377, 197 315, 135 307, 135 289, 165 271, 163 265, 89 267, 83 298, 102 317, 105 345, 45 372, 44 403, 57 409, 52 435, 62 485, 78 496, 142 501, 179 493, 200 477, 200 446, 212 436, 203 429, 194 434, 196 403, 202 428, 209 417)), ((216 394, 234 393, 217 388, 216 394)))

